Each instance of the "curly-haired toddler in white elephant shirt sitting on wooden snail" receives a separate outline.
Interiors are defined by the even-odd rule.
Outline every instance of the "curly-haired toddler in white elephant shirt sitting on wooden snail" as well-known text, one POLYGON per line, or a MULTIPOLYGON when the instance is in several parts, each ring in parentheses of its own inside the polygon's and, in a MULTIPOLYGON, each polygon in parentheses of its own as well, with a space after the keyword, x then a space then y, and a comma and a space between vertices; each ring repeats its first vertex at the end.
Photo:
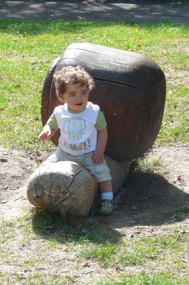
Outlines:
POLYGON ((54 109, 39 141, 46 141, 60 129, 58 149, 47 162, 73 161, 85 168, 98 181, 102 204, 99 214, 113 213, 112 177, 104 160, 107 127, 98 105, 88 102, 94 87, 92 77, 81 66, 64 67, 54 74, 56 95, 65 103, 54 109))

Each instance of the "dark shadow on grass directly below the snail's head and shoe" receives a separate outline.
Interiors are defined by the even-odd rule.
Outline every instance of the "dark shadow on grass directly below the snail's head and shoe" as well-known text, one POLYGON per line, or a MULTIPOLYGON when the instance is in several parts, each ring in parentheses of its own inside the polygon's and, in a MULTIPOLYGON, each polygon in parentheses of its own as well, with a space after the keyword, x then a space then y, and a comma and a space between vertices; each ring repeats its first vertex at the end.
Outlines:
POLYGON ((31 209, 33 230, 43 239, 55 239, 60 243, 86 243, 116 244, 121 234, 100 221, 97 217, 77 218, 66 217, 59 214, 41 210, 37 207, 31 209))

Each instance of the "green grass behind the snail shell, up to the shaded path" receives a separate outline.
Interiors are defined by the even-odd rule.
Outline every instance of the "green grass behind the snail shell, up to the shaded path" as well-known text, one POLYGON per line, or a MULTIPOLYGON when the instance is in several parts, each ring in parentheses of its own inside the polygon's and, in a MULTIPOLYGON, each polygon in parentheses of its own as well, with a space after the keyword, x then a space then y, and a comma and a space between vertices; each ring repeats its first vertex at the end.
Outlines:
POLYGON ((0 144, 45 149, 39 144, 42 86, 50 62, 73 42, 92 42, 142 53, 155 60, 167 81, 167 97, 158 143, 187 142, 188 25, 171 22, 0 20, 0 144))

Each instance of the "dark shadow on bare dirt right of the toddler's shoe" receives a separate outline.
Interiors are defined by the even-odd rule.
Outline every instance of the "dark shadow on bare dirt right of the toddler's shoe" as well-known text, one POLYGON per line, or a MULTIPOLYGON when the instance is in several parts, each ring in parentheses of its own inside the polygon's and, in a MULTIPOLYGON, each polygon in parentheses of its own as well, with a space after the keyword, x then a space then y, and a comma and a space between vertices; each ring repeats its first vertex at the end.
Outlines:
POLYGON ((182 191, 179 180, 169 183, 164 177, 147 177, 146 190, 137 188, 126 192, 123 203, 115 209, 110 224, 116 228, 136 225, 174 224, 188 218, 189 194, 182 191))

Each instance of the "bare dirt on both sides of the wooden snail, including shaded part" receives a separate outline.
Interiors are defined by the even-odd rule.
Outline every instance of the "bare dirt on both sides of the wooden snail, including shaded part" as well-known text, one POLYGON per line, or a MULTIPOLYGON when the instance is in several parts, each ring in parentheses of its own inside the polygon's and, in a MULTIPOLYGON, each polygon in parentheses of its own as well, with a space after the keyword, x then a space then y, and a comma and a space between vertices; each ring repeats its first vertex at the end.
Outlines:
MULTIPOLYGON (((32 170, 37 169, 50 152, 19 153, 0 148, 0 219, 11 219, 21 215, 31 205, 27 200, 26 185, 32 170)), ((106 219, 117 228, 135 225, 163 225, 165 222, 183 220, 183 215, 171 218, 172 210, 178 206, 189 206, 189 146, 186 144, 154 145, 146 159, 161 157, 163 167, 160 175, 148 181, 146 189, 125 189, 123 203, 118 203, 114 215, 106 219), (124 202, 125 201, 125 202, 124 202)), ((186 214, 184 214, 186 217, 186 214)))

